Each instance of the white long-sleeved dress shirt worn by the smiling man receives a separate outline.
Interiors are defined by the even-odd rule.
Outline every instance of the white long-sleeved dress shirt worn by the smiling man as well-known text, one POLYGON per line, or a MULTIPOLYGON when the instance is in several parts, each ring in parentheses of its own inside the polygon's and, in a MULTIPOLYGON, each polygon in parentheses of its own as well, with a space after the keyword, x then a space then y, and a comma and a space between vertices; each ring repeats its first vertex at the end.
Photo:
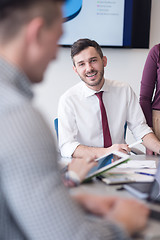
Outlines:
MULTIPOLYGON (((112 144, 125 143, 124 125, 136 140, 152 132, 132 88, 122 82, 105 80, 101 89, 112 144)), ((71 157, 78 145, 103 147, 103 129, 99 100, 95 91, 80 82, 65 92, 58 107, 59 148, 71 157)))

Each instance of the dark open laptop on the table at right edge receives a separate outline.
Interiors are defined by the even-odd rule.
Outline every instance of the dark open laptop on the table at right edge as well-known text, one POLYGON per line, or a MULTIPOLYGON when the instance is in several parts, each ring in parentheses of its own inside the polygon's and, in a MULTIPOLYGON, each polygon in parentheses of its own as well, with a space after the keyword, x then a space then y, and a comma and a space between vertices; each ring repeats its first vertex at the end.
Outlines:
POLYGON ((160 220, 160 161, 153 182, 135 182, 123 185, 124 189, 147 202, 150 217, 160 220))

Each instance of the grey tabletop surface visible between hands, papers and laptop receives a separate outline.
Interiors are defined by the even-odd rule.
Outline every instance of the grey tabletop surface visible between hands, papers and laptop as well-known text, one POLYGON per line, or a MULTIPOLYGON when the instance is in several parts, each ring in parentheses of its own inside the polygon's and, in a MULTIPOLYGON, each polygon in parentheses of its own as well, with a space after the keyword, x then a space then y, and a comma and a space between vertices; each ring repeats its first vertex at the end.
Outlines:
MULTIPOLYGON (((159 157, 156 156, 145 156, 145 155, 132 155, 131 159, 135 160, 155 160, 156 165, 158 164, 159 157)), ((121 169, 122 170, 122 169, 121 169)), ((126 190, 117 190, 121 187, 121 185, 114 185, 109 186, 106 185, 98 180, 94 180, 92 183, 85 183, 81 184, 79 187, 72 189, 74 193, 76 192, 86 192, 86 193, 93 193, 93 194, 103 194, 103 195, 116 195, 120 197, 127 197, 127 198, 133 198, 133 195, 131 195, 126 190)), ((147 205, 152 205, 155 209, 160 209, 160 205, 155 205, 151 203, 147 203, 147 205)), ((136 238, 136 240, 160 240, 160 221, 156 221, 153 219, 149 219, 148 225, 146 229, 143 230, 136 238), (156 236, 157 234, 157 236, 156 236), (153 238, 153 236, 155 236, 153 238)))

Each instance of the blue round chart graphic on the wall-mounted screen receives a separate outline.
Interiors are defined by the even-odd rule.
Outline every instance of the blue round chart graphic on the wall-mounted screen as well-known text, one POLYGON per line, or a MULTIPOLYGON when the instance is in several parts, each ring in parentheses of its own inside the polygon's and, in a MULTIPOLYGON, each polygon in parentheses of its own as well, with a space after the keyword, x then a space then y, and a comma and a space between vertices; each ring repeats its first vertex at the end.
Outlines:
POLYGON ((67 22, 75 18, 82 8, 82 0, 67 0, 63 6, 63 19, 67 22))

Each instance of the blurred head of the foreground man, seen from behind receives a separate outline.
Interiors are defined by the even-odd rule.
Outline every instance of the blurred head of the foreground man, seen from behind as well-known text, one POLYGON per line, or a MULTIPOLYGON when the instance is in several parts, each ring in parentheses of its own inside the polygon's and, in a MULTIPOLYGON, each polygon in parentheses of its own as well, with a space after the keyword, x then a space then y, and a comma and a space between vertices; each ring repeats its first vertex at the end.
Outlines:
POLYGON ((0 0, 0 56, 39 82, 56 57, 65 0, 0 0))

